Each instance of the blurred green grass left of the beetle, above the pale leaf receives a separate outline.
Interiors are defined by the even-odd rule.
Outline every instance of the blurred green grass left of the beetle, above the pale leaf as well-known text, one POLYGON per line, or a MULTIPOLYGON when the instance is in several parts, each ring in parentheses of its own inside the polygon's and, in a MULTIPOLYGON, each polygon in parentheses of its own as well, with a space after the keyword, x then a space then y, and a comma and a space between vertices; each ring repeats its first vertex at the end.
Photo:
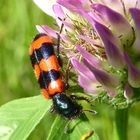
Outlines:
POLYGON ((29 59, 36 24, 50 24, 31 0, 0 0, 0 104, 39 93, 29 59))

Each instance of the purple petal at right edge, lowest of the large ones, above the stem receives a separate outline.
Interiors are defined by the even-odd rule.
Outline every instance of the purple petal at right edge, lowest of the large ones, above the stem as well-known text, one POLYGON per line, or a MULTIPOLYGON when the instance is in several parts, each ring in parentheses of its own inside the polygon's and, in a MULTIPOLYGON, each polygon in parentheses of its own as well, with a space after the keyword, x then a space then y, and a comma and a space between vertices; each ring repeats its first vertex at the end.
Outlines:
POLYGON ((124 54, 128 66, 128 82, 132 87, 140 87, 140 70, 137 69, 131 62, 128 54, 124 54))

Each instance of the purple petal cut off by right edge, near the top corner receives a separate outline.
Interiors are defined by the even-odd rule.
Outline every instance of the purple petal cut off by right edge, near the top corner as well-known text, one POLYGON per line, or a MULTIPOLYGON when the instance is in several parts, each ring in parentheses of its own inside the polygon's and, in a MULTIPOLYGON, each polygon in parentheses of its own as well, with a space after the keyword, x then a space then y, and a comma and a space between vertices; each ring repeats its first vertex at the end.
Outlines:
POLYGON ((136 27, 135 32, 137 37, 134 43, 134 49, 136 50, 136 52, 140 53, 140 10, 136 8, 131 8, 130 13, 132 15, 136 27))

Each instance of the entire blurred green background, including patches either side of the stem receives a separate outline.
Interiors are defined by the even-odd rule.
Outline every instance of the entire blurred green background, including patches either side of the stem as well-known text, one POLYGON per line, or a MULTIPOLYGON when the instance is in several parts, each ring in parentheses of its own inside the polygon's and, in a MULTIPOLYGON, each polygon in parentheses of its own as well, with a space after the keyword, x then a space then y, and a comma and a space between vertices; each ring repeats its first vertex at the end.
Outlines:
MULTIPOLYGON (((35 25, 51 25, 52 21, 31 0, 0 0, 0 105, 40 94, 28 52, 37 33, 35 25)), ((93 124, 101 140, 113 140, 112 108, 97 105, 95 109, 98 115, 94 116, 93 124)), ((29 139, 45 139, 44 126, 45 120, 29 139)), ((139 131, 140 103, 137 103, 130 109, 129 140, 139 140, 139 131)))

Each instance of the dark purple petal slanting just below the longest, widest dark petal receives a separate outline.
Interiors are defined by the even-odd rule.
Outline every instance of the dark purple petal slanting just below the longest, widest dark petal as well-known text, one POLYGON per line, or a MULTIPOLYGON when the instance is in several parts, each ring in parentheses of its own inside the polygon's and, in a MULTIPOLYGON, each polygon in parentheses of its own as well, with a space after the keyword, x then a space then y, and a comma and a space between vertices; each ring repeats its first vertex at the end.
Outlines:
POLYGON ((118 79, 114 75, 109 75, 107 72, 103 70, 99 70, 94 68, 90 63, 84 60, 84 64, 91 70, 91 72, 95 75, 96 79, 107 88, 114 88, 118 85, 118 79))

